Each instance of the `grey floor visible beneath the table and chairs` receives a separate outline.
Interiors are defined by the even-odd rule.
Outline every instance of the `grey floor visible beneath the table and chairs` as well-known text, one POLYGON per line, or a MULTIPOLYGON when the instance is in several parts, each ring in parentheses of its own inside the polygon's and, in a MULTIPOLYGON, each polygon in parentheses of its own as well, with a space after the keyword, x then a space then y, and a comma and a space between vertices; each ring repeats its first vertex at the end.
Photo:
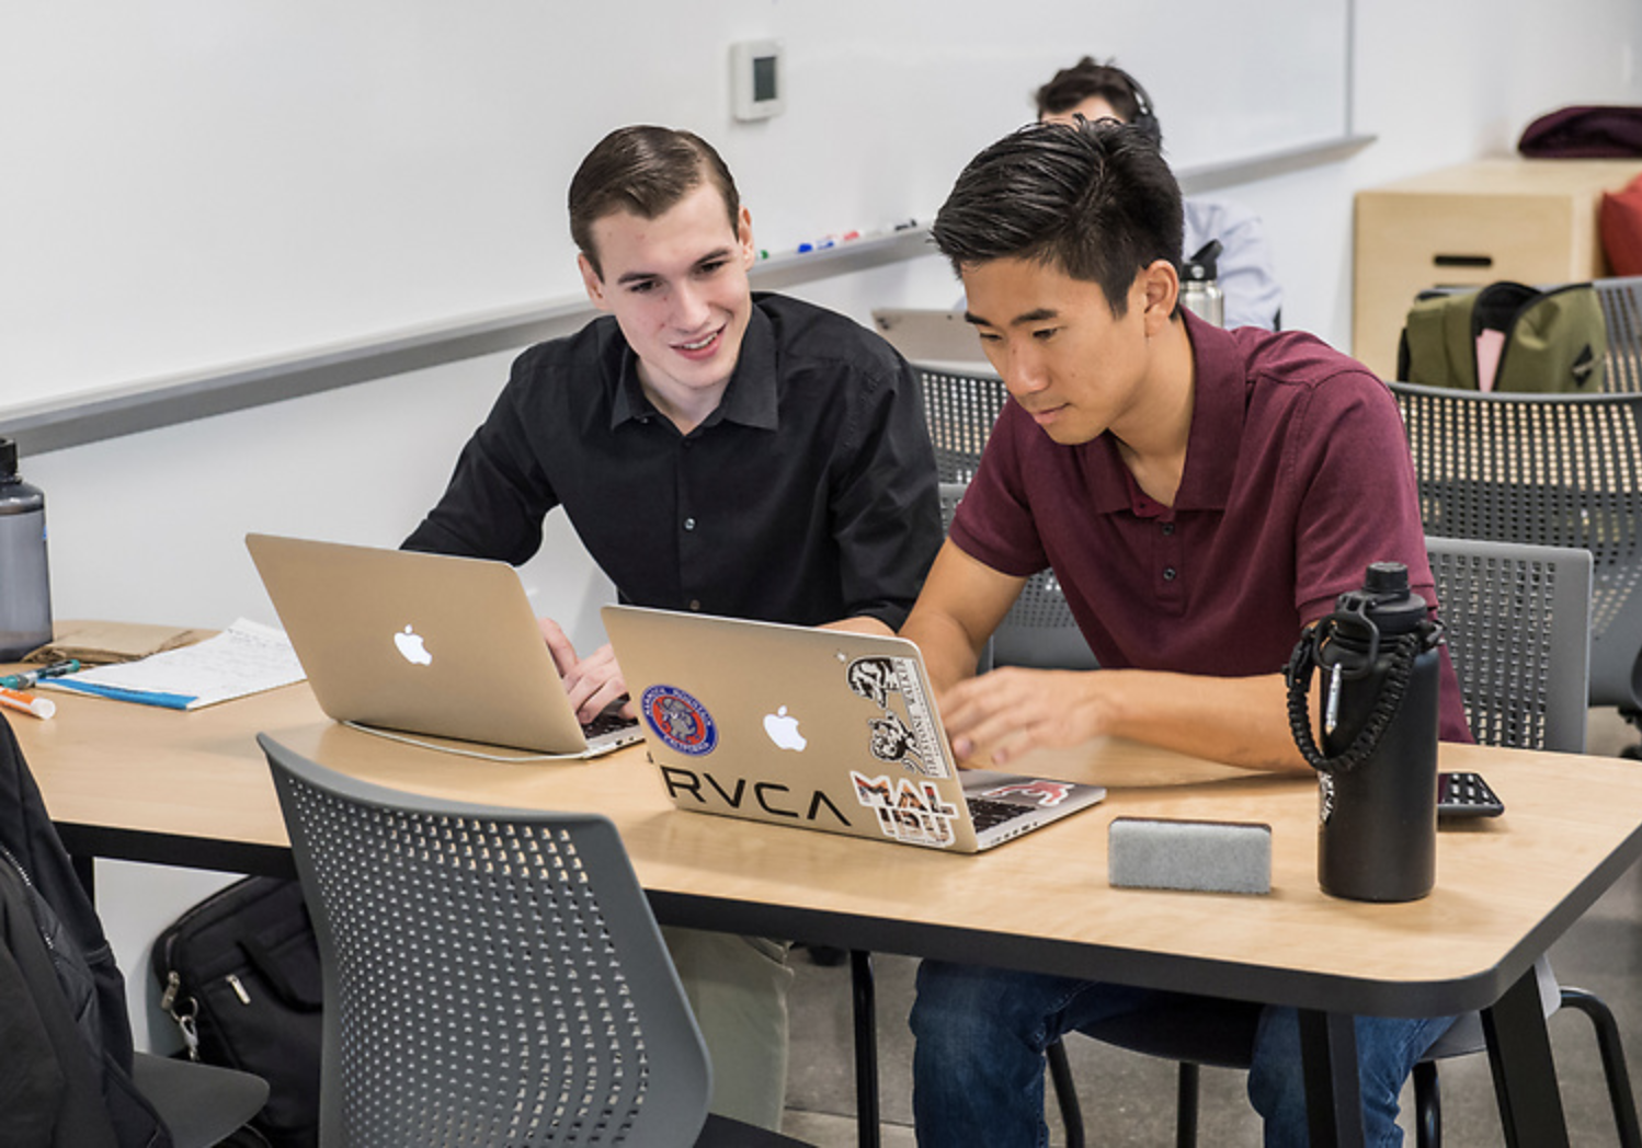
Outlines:
MULTIPOLYGON (((1591 753, 1617 753, 1637 740, 1612 710, 1591 712, 1591 753)), ((1642 769, 1642 763, 1637 764, 1642 769)), ((1509 795, 1507 795, 1509 800, 1509 795)), ((1627 872, 1552 950, 1563 984, 1596 992, 1614 1010, 1627 1041, 1632 1086, 1642 1086, 1642 871, 1627 872)), ((857 1143, 851 1059, 849 969, 821 968, 796 954, 793 1050, 783 1132, 821 1148, 857 1143)), ((875 958, 883 1145, 905 1148, 911 1135, 911 1004, 915 963, 875 958)), ((1552 1048, 1575 1145, 1612 1145, 1612 1117, 1591 1027, 1565 1010, 1550 1020, 1552 1048)), ((1085 1038, 1067 1041, 1090 1145, 1174 1143, 1174 1069, 1085 1038)), ((1448 1148, 1504 1145, 1484 1056, 1442 1066, 1443 1143, 1448 1148)), ((1406 1097, 1404 1107, 1412 1102, 1406 1097)), ((1062 1143, 1051 1118, 1051 1141, 1062 1143)), ((1243 1094, 1243 1074, 1205 1069, 1199 1143, 1259 1145, 1259 1123, 1243 1094)), ((1414 1143, 1414 1135, 1407 1135, 1414 1143)))

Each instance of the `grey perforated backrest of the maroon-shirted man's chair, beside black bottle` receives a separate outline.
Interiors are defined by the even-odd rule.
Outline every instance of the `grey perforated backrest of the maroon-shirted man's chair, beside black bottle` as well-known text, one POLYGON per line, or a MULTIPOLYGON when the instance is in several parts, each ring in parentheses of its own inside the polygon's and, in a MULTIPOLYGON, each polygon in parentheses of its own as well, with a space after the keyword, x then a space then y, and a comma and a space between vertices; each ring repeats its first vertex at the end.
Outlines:
POLYGON ((1478 741, 1585 753, 1591 554, 1427 538, 1448 653, 1478 741))

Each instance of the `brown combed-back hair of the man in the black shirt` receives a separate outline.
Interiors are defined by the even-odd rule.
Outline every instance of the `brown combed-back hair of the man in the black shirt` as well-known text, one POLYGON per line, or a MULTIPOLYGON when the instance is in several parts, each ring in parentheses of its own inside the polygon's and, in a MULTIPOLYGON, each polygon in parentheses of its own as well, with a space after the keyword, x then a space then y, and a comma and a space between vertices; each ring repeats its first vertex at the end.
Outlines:
POLYGON ((593 272, 603 277, 599 256, 593 248, 594 223, 616 212, 654 220, 703 182, 719 189, 731 230, 737 228, 741 195, 713 144, 677 128, 617 128, 588 153, 570 179, 570 238, 593 264, 593 272))

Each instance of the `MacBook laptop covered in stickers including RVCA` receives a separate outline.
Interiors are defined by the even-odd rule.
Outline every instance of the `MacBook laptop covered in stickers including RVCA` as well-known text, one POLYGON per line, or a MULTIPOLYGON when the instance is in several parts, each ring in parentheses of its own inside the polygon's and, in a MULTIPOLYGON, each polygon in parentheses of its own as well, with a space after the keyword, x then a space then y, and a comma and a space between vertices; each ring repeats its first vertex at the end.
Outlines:
POLYGON ((603 613, 678 809, 975 853, 1105 797, 957 769, 918 646, 903 638, 603 613))

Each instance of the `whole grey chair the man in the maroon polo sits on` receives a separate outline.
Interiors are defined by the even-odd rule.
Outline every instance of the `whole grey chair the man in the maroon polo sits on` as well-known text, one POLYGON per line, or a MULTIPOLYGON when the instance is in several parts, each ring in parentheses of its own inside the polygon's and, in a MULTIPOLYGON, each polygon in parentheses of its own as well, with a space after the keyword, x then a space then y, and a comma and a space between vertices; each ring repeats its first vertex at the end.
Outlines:
MULTIPOLYGON (((1450 538, 1427 538, 1427 549, 1466 718, 1478 741, 1583 751, 1591 556, 1570 548, 1450 538)), ((1558 987, 1545 959, 1537 968, 1547 1015, 1565 1005, 1594 1025, 1619 1141, 1637 1148, 1642 1133, 1612 1014, 1589 992, 1558 987)), ((1256 1023, 1256 1005, 1210 1000, 1204 1007, 1117 1018, 1089 1035, 1179 1061, 1176 1143, 1189 1146, 1197 1143, 1199 1066, 1246 1069, 1256 1023)), ((1455 1022, 1415 1066, 1420 1148, 1442 1143, 1437 1061, 1484 1048, 1481 1018, 1471 1014, 1455 1022)), ((1059 1074, 1067 1071, 1064 1046, 1051 1046, 1049 1056, 1059 1089, 1059 1074)), ((1067 1145, 1082 1145, 1080 1127, 1069 1127, 1067 1145)))

